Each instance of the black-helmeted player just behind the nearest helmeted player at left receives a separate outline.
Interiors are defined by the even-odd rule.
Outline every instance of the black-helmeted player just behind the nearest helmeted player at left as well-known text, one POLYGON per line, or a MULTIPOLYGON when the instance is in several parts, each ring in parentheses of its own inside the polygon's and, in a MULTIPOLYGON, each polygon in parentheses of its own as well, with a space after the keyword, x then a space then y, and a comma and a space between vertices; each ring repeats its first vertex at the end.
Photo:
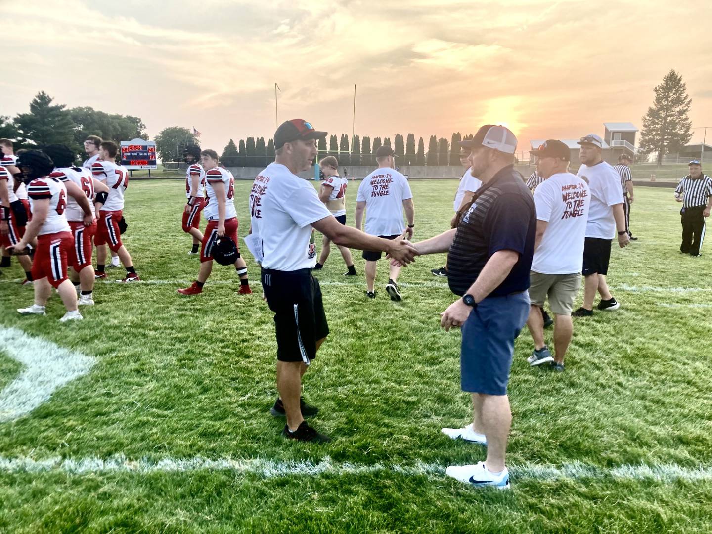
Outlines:
POLYGON ((73 197, 67 199, 65 214, 74 238, 74 247, 69 255, 69 272, 72 283, 78 286, 80 296, 78 305, 93 305, 94 267, 92 265, 92 238, 96 234, 96 218, 94 197, 98 198, 97 205, 101 207, 108 197, 109 188, 92 176, 89 169, 74 165, 74 152, 66 145, 49 145, 43 152, 51 157, 54 170, 51 177, 61 182, 71 181, 77 184, 89 201, 92 216, 89 219, 80 209, 73 197))

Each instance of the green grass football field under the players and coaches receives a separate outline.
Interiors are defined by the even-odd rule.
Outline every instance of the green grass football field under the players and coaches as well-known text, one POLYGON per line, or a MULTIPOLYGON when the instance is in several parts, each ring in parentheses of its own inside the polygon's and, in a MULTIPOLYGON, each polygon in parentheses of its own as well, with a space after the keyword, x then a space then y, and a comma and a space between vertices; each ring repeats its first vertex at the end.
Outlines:
MULTIPOLYGON (((58 323, 57 295, 46 317, 19 316, 32 291, 17 283, 16 262, 4 269, 0 329, 96 364, 25 417, 0 422, 0 532, 712 531, 712 253, 678 253, 668 189, 637 189, 640 239, 614 249, 609 275, 622 307, 575 321, 566 372, 530 368, 530 336, 518 338, 512 489, 500 492, 444 475, 485 454, 440 433, 470 414, 460 333, 439 328, 454 296, 429 273, 444 256, 405 268, 404 300, 392 303, 384 263, 367 300, 364 278, 343 278, 332 252, 317 275, 332 334, 305 397, 334 441, 285 441, 283 421, 268 414, 272 316, 246 247, 256 294, 237 295, 234 269, 221 266, 202 295, 175 291, 199 263, 180 229, 182 187, 127 189, 124 241, 144 282, 98 284, 79 323, 58 323)), ((250 187, 236 184, 241 236, 250 187)), ((446 229, 456 182, 412 188, 415 238, 446 229)), ((23 370, 6 349, 0 340, 0 387, 23 370)))

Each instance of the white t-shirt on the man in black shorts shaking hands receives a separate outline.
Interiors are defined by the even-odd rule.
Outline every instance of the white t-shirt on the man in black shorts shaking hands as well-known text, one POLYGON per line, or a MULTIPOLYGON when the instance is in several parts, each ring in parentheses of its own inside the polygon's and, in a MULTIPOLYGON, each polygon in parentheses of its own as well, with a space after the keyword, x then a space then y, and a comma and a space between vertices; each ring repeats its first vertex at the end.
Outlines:
POLYGON ((266 269, 298 271, 316 265, 312 223, 331 216, 313 185, 273 162, 255 178, 250 192, 252 232, 262 241, 266 269))

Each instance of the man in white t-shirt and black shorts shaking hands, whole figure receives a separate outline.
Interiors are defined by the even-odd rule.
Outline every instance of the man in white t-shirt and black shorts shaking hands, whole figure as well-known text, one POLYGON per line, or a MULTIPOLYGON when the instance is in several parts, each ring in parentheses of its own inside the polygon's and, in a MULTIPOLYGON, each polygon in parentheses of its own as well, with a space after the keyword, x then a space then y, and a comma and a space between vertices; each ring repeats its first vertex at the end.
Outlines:
POLYGON ((274 312, 277 335, 277 389, 271 409, 286 417, 283 436, 298 441, 329 441, 305 422, 318 409, 300 397, 301 377, 329 333, 319 282, 311 275, 316 249, 313 229, 337 245, 384 251, 401 263, 416 254, 407 241, 368 236, 344 226, 330 213, 313 185, 297 176, 309 169, 317 155, 315 140, 326 136, 309 122, 283 122, 274 135, 275 161, 255 178, 250 193, 251 250, 262 266, 262 287, 274 312))

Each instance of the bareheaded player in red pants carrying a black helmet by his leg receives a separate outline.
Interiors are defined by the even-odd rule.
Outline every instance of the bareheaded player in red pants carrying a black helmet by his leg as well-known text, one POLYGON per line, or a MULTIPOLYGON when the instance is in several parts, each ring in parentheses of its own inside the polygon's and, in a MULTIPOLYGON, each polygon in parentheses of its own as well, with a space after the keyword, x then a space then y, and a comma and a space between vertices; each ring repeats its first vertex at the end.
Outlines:
POLYGON ((228 236, 238 247, 235 269, 240 277, 240 295, 252 293, 247 279, 247 263, 241 258, 237 241, 237 212, 233 197, 235 196, 235 179, 232 173, 218 167, 218 155, 214 150, 203 150, 200 161, 205 169, 205 217, 208 225, 200 250, 200 272, 192 286, 179 289, 181 295, 197 295, 203 292, 205 281, 213 271, 213 256, 211 249, 218 237, 228 236))

